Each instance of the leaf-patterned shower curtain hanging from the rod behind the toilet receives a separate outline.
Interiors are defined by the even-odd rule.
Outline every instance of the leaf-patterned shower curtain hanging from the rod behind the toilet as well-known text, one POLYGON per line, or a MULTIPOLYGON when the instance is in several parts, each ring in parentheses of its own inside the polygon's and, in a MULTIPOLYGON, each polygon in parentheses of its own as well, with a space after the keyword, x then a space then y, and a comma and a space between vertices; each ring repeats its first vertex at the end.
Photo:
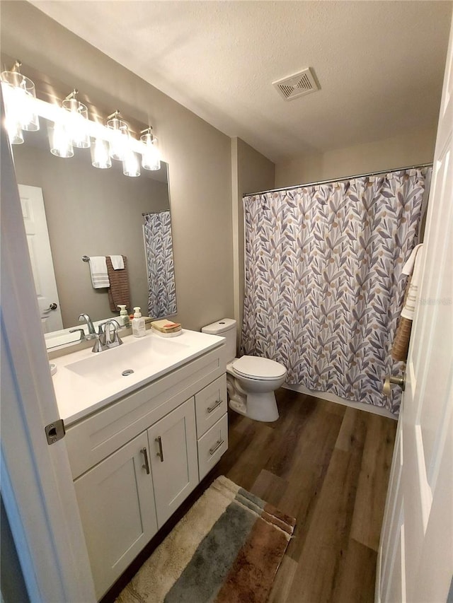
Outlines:
POLYGON ((398 412, 382 394, 403 264, 416 244, 426 169, 243 198, 241 351, 285 365, 287 382, 398 412))

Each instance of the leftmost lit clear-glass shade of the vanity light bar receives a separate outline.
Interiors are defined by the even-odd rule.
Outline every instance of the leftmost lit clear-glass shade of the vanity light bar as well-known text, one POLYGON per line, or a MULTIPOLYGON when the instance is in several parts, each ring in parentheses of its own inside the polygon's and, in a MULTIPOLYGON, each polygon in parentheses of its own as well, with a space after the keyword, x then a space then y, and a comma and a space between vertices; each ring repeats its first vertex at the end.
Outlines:
POLYGON ((6 107, 6 127, 11 144, 22 144, 22 130, 36 131, 40 122, 33 107, 35 84, 21 74, 21 62, 16 61, 10 71, 1 72, 1 88, 6 107))

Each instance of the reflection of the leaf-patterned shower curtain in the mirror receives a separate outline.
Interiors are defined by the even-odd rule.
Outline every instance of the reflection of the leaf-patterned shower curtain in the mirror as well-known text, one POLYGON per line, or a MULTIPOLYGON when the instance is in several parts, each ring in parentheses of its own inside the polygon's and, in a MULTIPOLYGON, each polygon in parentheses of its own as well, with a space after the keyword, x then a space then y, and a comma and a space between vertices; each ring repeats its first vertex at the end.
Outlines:
POLYGON ((143 214, 144 246, 148 274, 148 315, 161 318, 176 314, 170 211, 143 214))

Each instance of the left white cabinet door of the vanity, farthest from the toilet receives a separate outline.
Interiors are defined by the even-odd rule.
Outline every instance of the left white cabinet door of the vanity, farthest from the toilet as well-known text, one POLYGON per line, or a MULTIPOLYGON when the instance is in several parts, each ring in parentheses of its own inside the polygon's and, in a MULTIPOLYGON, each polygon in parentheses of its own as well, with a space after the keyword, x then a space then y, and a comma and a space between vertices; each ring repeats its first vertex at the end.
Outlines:
POLYGON ((74 481, 98 598, 157 532, 145 450, 146 432, 74 481))

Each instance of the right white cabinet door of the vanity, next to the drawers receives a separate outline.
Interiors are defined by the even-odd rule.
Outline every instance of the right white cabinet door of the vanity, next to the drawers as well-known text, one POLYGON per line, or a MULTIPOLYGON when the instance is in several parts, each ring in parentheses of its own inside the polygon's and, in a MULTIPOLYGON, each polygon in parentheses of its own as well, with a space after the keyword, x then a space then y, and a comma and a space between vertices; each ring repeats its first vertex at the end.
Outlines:
POLYGON ((198 483, 194 399, 150 427, 148 440, 157 524, 161 527, 198 483))

